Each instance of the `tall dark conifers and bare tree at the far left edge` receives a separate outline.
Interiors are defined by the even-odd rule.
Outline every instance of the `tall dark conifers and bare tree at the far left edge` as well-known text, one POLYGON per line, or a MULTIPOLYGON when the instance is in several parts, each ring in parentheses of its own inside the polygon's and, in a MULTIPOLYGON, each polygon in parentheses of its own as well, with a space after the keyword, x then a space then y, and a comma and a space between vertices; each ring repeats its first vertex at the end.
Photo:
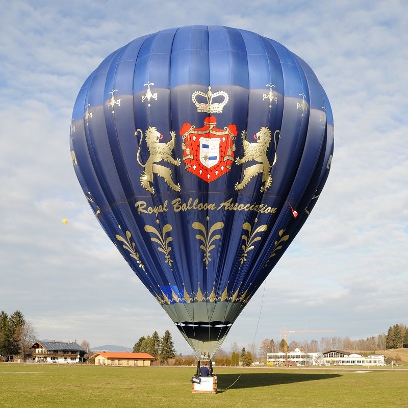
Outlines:
POLYGON ((19 310, 10 316, 5 311, 0 313, 0 354, 25 358, 36 339, 36 328, 19 310))

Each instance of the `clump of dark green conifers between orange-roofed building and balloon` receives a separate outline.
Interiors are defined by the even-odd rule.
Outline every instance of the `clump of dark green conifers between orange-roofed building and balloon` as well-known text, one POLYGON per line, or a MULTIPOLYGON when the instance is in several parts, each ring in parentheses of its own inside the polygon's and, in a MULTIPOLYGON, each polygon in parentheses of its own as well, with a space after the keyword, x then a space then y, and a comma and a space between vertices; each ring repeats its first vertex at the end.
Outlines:
POLYGON ((166 363, 176 355, 174 342, 169 330, 166 330, 161 338, 156 330, 151 336, 142 336, 133 346, 133 352, 148 353, 162 363, 166 363))

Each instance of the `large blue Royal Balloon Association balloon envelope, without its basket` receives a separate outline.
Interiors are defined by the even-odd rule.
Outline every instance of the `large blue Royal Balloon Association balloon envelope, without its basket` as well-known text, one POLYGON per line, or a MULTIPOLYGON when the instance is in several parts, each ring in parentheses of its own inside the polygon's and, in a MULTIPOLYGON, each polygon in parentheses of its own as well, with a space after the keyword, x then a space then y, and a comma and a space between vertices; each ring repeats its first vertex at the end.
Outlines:
POLYGON ((312 69, 246 30, 137 38, 82 86, 73 167, 100 225, 210 359, 326 182, 333 115, 312 69))

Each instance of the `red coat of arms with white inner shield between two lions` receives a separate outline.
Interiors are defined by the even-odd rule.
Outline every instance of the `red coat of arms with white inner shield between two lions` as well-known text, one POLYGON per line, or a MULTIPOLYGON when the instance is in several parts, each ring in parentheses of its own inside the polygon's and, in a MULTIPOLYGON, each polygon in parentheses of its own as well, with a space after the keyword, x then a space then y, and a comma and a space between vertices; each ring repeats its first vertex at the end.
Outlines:
POLYGON ((216 118, 210 116, 204 120, 203 127, 196 129, 190 123, 184 123, 180 131, 186 170, 206 182, 212 182, 230 171, 235 160, 237 126, 229 124, 218 129, 216 124, 216 118))

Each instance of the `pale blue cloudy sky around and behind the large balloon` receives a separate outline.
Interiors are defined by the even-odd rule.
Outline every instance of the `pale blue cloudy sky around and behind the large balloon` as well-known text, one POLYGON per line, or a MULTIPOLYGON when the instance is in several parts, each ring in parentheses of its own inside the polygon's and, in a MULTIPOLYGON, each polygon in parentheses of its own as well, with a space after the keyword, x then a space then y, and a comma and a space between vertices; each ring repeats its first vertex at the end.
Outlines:
MULTIPOLYGON (((81 85, 115 49, 168 27, 222 24, 304 59, 335 118, 328 181, 266 281, 255 341, 278 339, 284 326, 360 338, 408 324, 404 1, 1 0, 0 10, 1 310, 19 309, 40 338, 91 346, 131 346, 168 328, 177 351, 189 352, 90 211, 72 169, 69 124, 81 85)), ((262 293, 225 349, 253 341, 262 293)))

